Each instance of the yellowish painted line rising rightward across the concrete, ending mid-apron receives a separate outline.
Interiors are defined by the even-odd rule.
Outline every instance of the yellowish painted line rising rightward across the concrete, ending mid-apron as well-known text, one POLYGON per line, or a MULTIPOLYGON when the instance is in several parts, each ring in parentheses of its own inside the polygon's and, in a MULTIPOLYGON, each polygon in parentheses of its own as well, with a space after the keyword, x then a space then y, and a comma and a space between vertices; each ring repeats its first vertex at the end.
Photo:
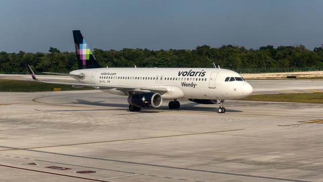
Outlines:
MULTIPOLYGON (((29 149, 51 148, 51 147, 66 147, 66 146, 87 145, 87 144, 100 144, 100 143, 110 143, 110 142, 124 142, 124 141, 135 141, 135 140, 159 139, 159 138, 170 138, 170 137, 177 137, 177 136, 197 135, 197 134, 210 134, 210 133, 239 131, 239 130, 244 130, 244 129, 230 129, 230 130, 209 131, 209 132, 199 132, 199 133, 174 134, 174 135, 166 135, 166 136, 151 136, 151 137, 145 137, 145 138, 111 140, 111 141, 100 141, 100 142, 87 142, 87 143, 66 144, 66 145, 56 145, 56 146, 43 146, 43 147, 30 147, 30 148, 13 148, 13 149, 0 150, 0 151, 29 150, 29 149)), ((2 147, 2 146, 0 146, 0 147, 2 147)), ((4 148, 8 148, 8 147, 4 147, 4 148)))

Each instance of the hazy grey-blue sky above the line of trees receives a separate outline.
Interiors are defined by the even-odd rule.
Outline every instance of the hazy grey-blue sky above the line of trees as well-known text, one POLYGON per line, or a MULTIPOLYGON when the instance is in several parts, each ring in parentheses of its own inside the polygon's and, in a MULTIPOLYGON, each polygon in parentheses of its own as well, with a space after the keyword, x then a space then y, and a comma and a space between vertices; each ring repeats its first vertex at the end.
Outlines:
POLYGON ((323 43, 323 1, 56 0, 6 1, 0 6, 0 51, 74 51, 72 30, 90 49, 194 49, 207 44, 323 43))

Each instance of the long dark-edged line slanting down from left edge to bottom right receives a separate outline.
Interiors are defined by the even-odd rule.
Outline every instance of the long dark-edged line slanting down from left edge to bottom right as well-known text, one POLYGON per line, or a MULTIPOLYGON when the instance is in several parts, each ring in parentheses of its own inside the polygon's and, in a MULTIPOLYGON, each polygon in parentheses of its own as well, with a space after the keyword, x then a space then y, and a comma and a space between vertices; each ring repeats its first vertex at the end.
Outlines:
MULTIPOLYGON (((6 147, 6 146, 0 146, 0 147, 11 148, 11 149, 18 149, 18 148, 13 148, 13 147, 6 147)), ((204 169, 186 168, 186 167, 176 167, 176 166, 159 165, 159 164, 151 164, 151 163, 122 161, 122 160, 115 160, 115 159, 106 159, 106 158, 97 158, 97 157, 87 157, 87 156, 79 156, 79 155, 73 155, 73 154, 63 154, 63 153, 56 153, 56 152, 46 152, 46 151, 31 150, 31 149, 22 149, 22 150, 30 151, 30 152, 45 153, 45 154, 53 154, 53 155, 62 155, 62 156, 69 156, 69 157, 77 157, 77 158, 83 158, 83 159, 93 159, 93 160, 101 160, 101 161, 109 161, 109 162, 119 162, 119 163, 126 163, 126 164, 144 165, 144 166, 152 166, 152 167, 162 167, 162 168, 168 168, 168 169, 178 169, 178 170, 195 171, 195 172, 206 172, 206 173, 214 173, 214 174, 224 174, 224 175, 231 175, 231 176, 251 177, 251 178, 260 178, 260 179, 272 179, 272 180, 282 180, 282 181, 294 181, 294 182, 312 182, 312 181, 300 180, 300 179, 290 179, 290 178, 271 177, 271 176, 262 176, 262 175, 252 175, 252 174, 243 174, 243 173, 226 172, 226 171, 204 170, 204 169)))

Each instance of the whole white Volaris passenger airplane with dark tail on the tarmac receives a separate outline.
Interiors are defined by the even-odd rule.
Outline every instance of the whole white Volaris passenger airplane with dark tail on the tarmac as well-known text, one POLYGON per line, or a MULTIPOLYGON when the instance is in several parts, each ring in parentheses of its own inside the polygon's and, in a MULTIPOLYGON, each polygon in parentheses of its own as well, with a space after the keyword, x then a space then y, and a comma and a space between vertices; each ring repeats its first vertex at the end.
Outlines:
POLYGON ((219 104, 225 113, 225 100, 235 100, 252 93, 252 86, 237 72, 216 68, 103 68, 88 47, 80 30, 73 30, 78 70, 52 75, 71 76, 81 83, 39 80, 28 65, 33 80, 42 83, 67 84, 80 88, 90 86, 107 93, 128 96, 129 110, 158 108, 163 99, 171 99, 170 109, 179 109, 178 99, 198 104, 219 104))

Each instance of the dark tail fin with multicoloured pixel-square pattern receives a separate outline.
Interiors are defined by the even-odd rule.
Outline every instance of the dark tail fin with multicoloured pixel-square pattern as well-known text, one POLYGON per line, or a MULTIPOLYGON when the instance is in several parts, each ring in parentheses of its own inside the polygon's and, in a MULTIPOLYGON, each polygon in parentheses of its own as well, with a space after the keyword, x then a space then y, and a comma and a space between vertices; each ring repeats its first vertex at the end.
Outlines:
POLYGON ((85 42, 80 30, 73 30, 75 51, 79 69, 101 68, 85 42))

